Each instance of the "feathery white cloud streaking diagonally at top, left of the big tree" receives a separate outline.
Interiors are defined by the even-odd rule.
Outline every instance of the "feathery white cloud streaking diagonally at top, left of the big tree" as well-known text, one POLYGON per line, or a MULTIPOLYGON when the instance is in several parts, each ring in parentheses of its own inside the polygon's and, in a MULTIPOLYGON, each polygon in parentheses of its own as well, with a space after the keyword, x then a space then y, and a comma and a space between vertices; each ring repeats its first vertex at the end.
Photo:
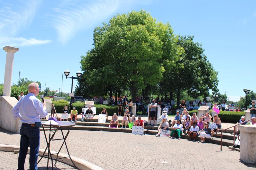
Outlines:
POLYGON ((106 0, 92 1, 91 4, 87 1, 86 4, 85 1, 65 0, 58 8, 53 8, 56 14, 52 16, 51 24, 57 31, 59 41, 65 44, 79 32, 102 23, 118 9, 142 2, 106 0))

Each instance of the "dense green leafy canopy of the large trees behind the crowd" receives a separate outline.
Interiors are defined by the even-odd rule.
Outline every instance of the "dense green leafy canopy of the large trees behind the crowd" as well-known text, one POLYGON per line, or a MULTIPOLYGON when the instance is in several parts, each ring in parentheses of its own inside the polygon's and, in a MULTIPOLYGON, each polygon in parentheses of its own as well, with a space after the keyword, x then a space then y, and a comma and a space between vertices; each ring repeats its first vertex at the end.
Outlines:
MULTIPOLYGON (((217 71, 193 36, 175 35, 169 23, 145 10, 117 14, 94 29, 94 47, 81 57, 76 95, 121 95, 131 91, 192 97, 218 91, 217 71)), ((177 100, 178 101, 178 100, 177 100)), ((179 102, 179 101, 178 101, 179 102)))

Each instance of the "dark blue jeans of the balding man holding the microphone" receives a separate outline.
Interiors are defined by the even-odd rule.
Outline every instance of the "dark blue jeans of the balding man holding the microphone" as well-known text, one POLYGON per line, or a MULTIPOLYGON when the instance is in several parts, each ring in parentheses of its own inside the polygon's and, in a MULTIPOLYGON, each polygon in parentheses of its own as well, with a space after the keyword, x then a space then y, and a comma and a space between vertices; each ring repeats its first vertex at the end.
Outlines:
POLYGON ((20 134, 21 144, 19 150, 18 170, 24 170, 24 164, 27 156, 28 147, 30 147, 29 169, 37 170, 37 157, 39 153, 40 144, 39 127, 32 127, 29 124, 23 123, 21 125, 20 134))

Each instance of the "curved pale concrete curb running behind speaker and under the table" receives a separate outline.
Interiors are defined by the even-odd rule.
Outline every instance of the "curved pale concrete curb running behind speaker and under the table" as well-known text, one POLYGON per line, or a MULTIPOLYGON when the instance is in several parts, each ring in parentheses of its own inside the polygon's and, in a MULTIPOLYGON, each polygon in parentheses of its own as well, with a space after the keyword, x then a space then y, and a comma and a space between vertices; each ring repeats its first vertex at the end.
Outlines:
MULTIPOLYGON (((19 150, 19 146, 17 145, 1 145, 0 144, 0 151, 6 151, 6 152, 14 152, 14 150, 19 150)), ((30 148, 28 149, 28 153, 30 151, 30 148)), ((39 155, 38 156, 42 156, 43 155, 44 150, 43 149, 39 149, 39 155)), ((51 151, 51 154, 57 154, 58 152, 55 151, 51 151)), ((45 158, 47 158, 47 154, 48 152, 45 152, 45 158)), ((52 155, 52 157, 55 159, 57 155, 52 155)), ((73 165, 71 160, 69 158, 65 158, 69 155, 67 154, 62 154, 59 153, 58 158, 62 158, 62 159, 58 159, 59 162, 68 164, 68 165, 73 165)), ((74 164, 76 165, 77 169, 81 169, 81 170, 103 170, 102 168, 98 167, 97 165, 94 165, 86 160, 77 158, 75 156, 71 156, 74 164)))

